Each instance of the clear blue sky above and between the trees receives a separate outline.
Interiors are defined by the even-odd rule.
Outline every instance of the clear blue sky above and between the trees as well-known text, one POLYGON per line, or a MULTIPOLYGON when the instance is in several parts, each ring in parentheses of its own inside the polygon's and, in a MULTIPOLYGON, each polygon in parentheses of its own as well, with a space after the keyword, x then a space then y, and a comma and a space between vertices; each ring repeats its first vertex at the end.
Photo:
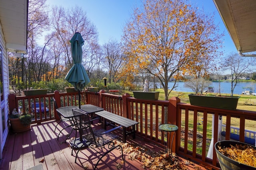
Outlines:
MULTIPOLYGON (((219 23, 220 31, 225 31, 226 34, 222 49, 224 55, 230 52, 237 53, 214 2, 212 0, 191 0, 191 2, 206 12, 215 12, 215 22, 219 23)), ((107 43, 110 39, 120 41, 122 28, 133 13, 132 9, 142 4, 140 0, 47 0, 46 3, 50 6, 57 5, 64 8, 82 6, 87 17, 97 28, 100 45, 107 43)))

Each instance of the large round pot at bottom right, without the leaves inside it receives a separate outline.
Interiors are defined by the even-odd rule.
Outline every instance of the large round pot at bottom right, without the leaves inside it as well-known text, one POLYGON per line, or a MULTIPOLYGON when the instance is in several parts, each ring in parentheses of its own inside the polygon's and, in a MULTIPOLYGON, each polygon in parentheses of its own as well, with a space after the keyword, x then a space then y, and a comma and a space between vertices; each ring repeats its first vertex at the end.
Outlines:
POLYGON ((218 141, 217 143, 215 143, 214 147, 222 170, 256 170, 256 167, 248 166, 246 164, 242 164, 240 162, 232 160, 231 158, 228 158, 219 151, 220 148, 230 147, 230 145, 248 145, 256 149, 256 147, 252 145, 242 143, 239 141, 218 141))

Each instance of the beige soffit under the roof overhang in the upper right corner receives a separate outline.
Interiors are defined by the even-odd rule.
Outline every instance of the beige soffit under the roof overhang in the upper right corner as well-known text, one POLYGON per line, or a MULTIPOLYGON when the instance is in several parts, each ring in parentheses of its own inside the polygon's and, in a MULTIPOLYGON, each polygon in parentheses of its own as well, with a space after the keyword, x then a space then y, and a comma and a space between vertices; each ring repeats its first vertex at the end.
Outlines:
POLYGON ((236 49, 256 51, 256 0, 213 0, 236 49))

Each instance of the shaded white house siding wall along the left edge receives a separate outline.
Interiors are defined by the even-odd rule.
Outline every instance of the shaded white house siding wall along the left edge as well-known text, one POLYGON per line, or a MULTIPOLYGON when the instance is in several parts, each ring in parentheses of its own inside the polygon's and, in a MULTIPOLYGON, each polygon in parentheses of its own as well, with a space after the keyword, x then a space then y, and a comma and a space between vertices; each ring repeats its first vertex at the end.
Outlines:
POLYGON ((4 115, 5 120, 4 122, 0 121, 0 159, 2 159, 2 151, 4 144, 6 142, 6 138, 8 135, 8 131, 10 128, 10 125, 8 124, 8 113, 9 113, 9 107, 8 107, 8 95, 9 95, 9 74, 8 74, 8 55, 6 50, 6 42, 4 39, 4 33, 2 31, 2 25, 0 22, 0 47, 2 50, 2 68, 3 68, 3 92, 4 92, 4 99, 1 102, 1 117, 4 115), (3 124, 4 123, 4 131, 3 131, 3 124))

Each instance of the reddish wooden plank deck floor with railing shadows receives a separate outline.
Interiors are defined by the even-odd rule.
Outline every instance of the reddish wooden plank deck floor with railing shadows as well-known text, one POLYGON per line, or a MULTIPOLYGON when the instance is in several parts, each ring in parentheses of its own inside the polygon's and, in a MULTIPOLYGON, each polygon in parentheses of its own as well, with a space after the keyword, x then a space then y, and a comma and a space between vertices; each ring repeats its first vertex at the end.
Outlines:
MULTIPOLYGON (((69 141, 64 143, 66 135, 70 132, 67 129, 60 135, 57 141, 57 133, 54 133, 56 121, 48 121, 40 125, 32 125, 30 131, 24 133, 10 132, 4 146, 3 156, 0 163, 0 170, 27 170, 34 166, 41 166, 43 170, 83 170, 93 169, 98 160, 98 156, 88 148, 82 150, 78 154, 79 158, 75 163, 75 156, 71 155, 71 148, 69 141)), ((60 123, 62 125, 62 123, 60 123)), ((63 125, 62 125, 63 126, 63 125)), ((57 129, 56 131, 58 131, 57 129)), ((121 131, 120 131, 121 132, 121 131)), ((117 132, 119 133, 119 132, 117 132)), ((74 137, 75 133, 71 135, 74 137)), ((132 139, 128 136, 127 143, 141 144, 150 150, 160 151, 162 148, 150 143, 146 143, 139 137, 132 139)), ((104 152, 98 149, 99 152, 104 152)), ((75 155, 75 154, 74 154, 75 155)), ((124 153, 124 160, 120 150, 115 149, 113 152, 104 156, 103 160, 99 162, 97 169, 101 170, 116 170, 118 164, 122 165, 122 170, 143 170, 142 162, 139 160, 129 159, 129 154, 124 153)), ((179 157, 180 162, 184 164, 185 169, 202 169, 202 166, 194 164, 184 158, 179 157)), ((148 168, 152 169, 152 168, 148 168)))

